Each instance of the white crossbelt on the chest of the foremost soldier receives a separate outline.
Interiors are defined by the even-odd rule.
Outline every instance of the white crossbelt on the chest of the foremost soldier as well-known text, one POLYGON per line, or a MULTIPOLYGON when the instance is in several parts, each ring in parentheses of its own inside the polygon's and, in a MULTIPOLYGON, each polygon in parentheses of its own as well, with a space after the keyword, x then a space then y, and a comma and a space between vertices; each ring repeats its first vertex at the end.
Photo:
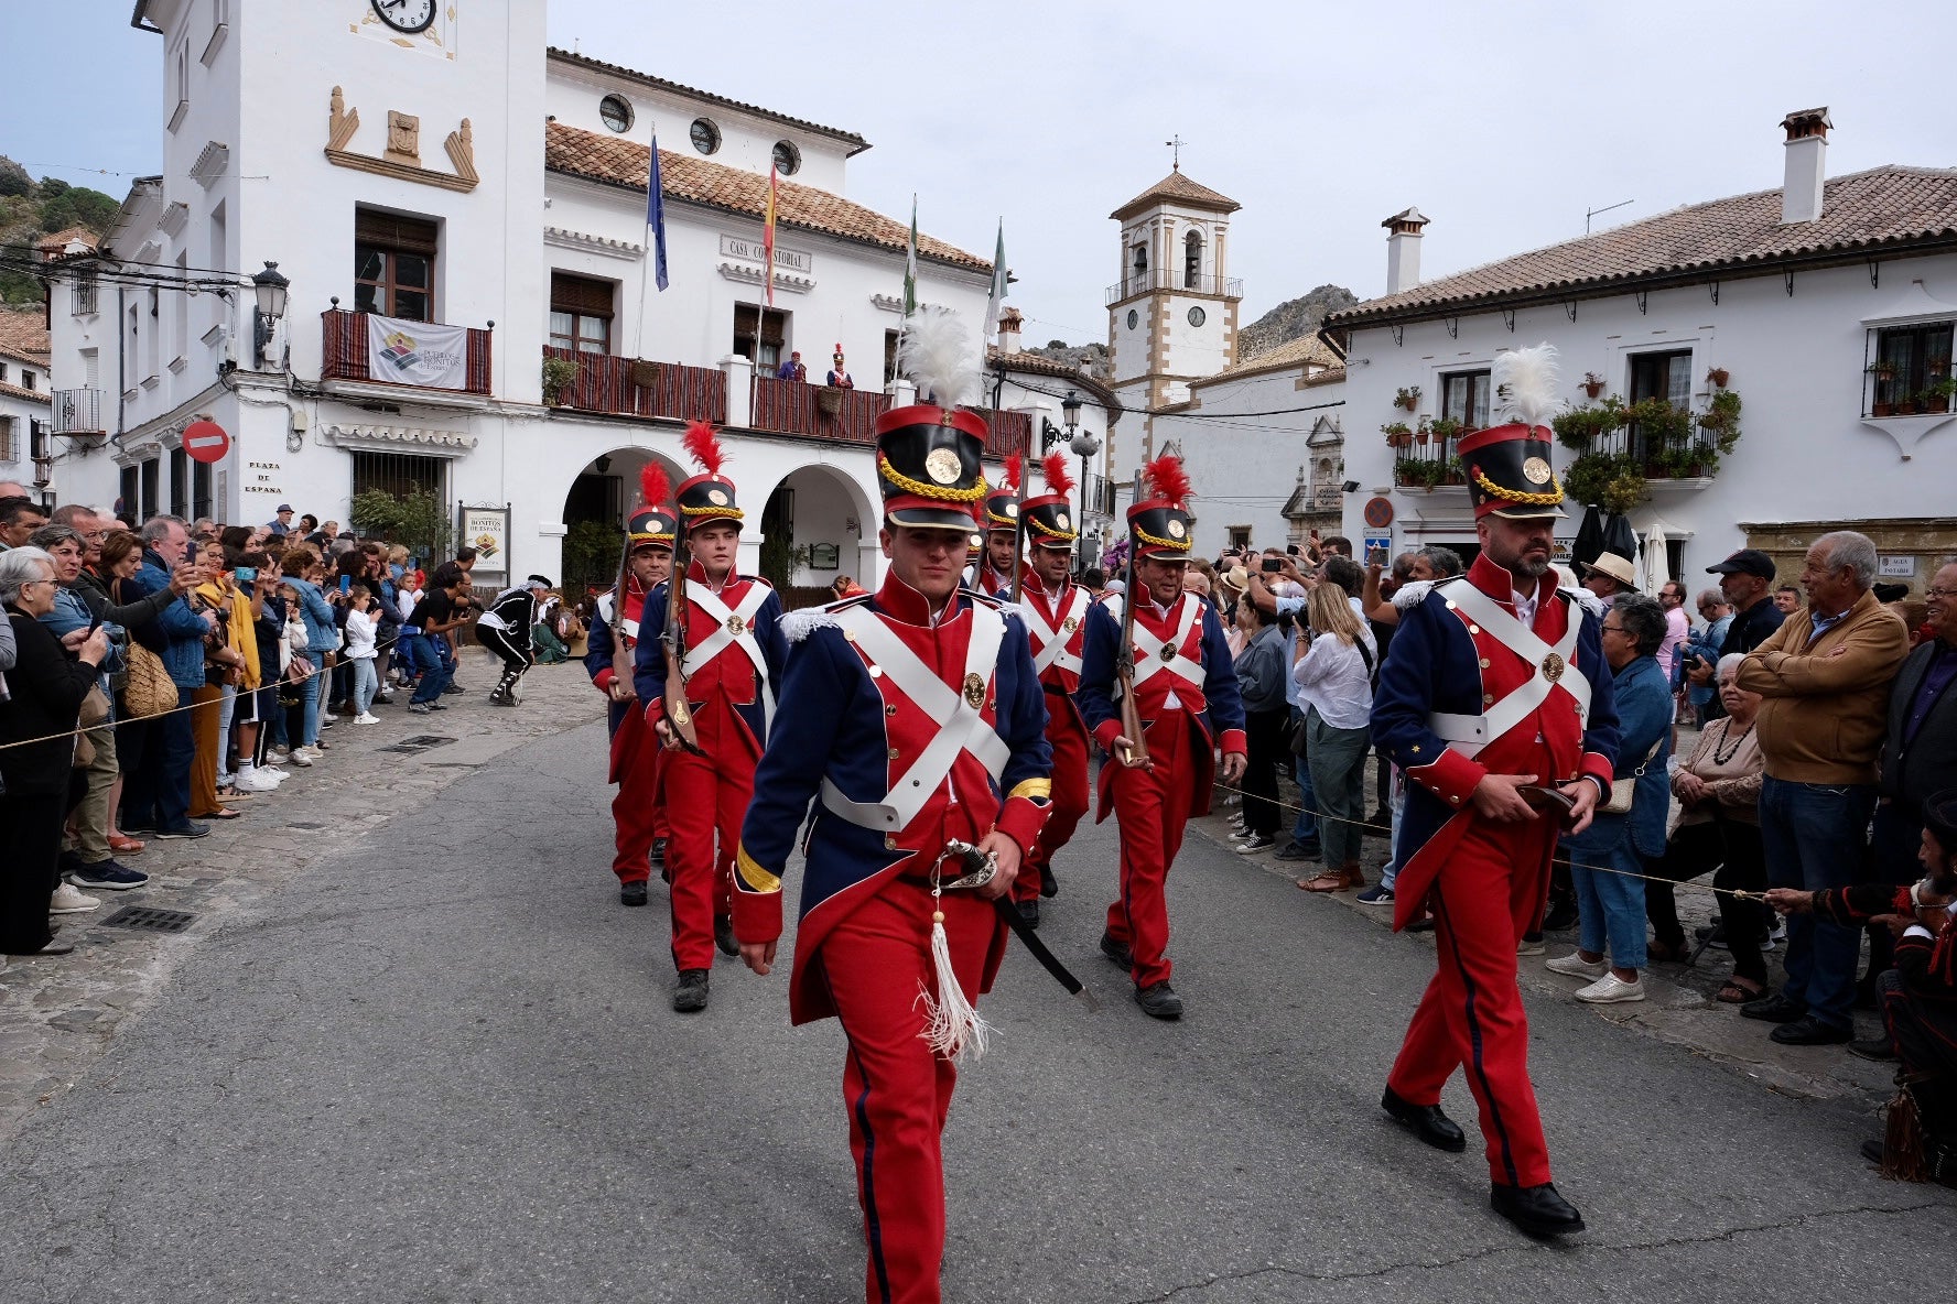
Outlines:
MULTIPOLYGON (((971 618, 973 633, 965 645, 965 676, 977 674, 990 694, 992 674, 998 669, 998 649, 1006 639, 1006 618, 982 602, 973 602, 971 618)), ((851 802, 824 778, 822 804, 826 807, 857 827, 896 833, 918 817, 961 755, 977 757, 992 778, 1006 772, 1006 761, 1012 759, 1006 739, 984 721, 978 706, 973 706, 959 688, 924 665, 918 653, 910 651, 877 612, 867 606, 845 606, 836 612, 836 624, 843 628, 843 637, 855 643, 857 651, 881 669, 898 692, 932 717, 937 735, 918 753, 918 759, 910 762, 910 768, 883 802, 851 802)), ((982 704, 984 696, 978 702, 982 704)))

